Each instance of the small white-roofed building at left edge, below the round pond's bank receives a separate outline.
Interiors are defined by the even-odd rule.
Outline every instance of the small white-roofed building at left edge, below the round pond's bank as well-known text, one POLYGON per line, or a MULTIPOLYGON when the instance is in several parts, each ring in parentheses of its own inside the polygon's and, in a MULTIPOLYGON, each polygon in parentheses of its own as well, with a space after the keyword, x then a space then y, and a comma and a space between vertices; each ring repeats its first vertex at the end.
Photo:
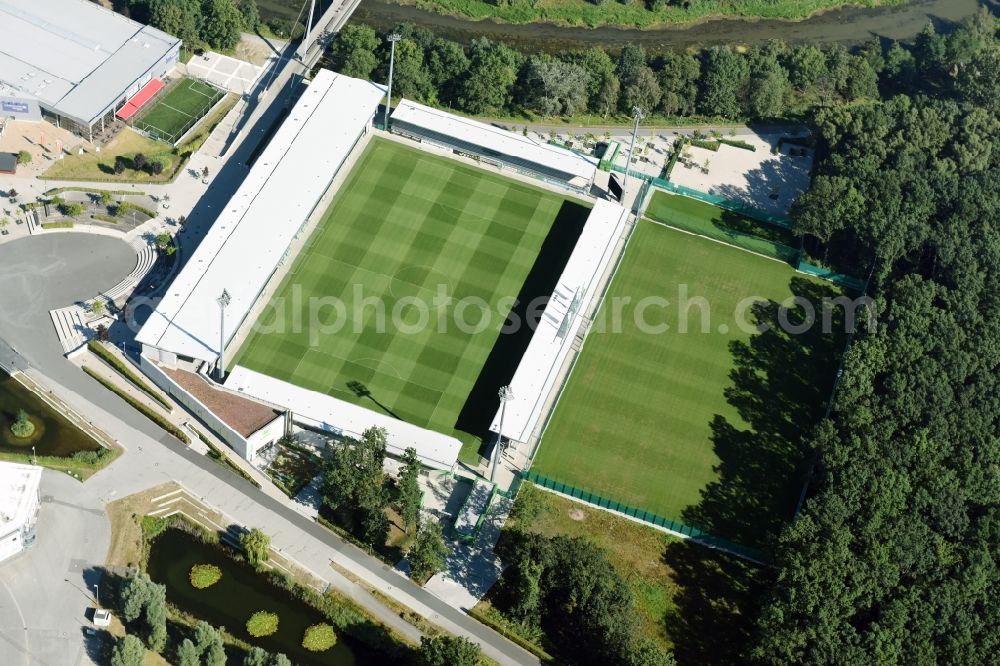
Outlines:
POLYGON ((35 539, 42 468, 0 462, 0 562, 35 539))

